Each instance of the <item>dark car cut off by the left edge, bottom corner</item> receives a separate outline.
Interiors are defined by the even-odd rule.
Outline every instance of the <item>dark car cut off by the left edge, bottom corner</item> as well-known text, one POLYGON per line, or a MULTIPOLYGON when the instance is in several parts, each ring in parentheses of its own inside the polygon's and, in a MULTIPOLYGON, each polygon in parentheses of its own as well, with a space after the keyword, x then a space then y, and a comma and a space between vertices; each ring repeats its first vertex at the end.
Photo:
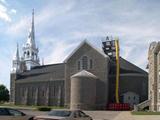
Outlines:
POLYGON ((33 120, 33 116, 11 108, 0 108, 0 120, 33 120))

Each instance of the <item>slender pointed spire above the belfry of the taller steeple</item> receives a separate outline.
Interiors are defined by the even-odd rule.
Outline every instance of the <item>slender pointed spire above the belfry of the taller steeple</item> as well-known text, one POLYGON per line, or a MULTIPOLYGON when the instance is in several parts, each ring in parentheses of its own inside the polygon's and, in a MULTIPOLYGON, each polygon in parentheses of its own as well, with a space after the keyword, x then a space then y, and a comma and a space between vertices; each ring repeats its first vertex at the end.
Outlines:
POLYGON ((27 44, 29 44, 33 48, 36 48, 35 29, 34 29, 34 9, 32 10, 32 23, 31 23, 31 28, 30 28, 29 35, 28 35, 27 44))

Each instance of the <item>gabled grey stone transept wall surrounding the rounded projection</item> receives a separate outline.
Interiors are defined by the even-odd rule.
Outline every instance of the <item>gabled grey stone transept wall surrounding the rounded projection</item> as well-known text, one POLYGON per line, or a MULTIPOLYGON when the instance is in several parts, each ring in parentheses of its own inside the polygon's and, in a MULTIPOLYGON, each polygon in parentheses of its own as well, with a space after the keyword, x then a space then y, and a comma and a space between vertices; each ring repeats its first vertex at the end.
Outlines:
POLYGON ((90 73, 96 75, 100 82, 97 83, 96 104, 99 107, 106 106, 108 102, 108 62, 109 58, 100 54, 87 43, 84 43, 75 53, 67 60, 65 67, 65 105, 70 106, 70 77, 81 69, 78 69, 78 61, 83 56, 93 60, 93 68, 87 69, 90 73))

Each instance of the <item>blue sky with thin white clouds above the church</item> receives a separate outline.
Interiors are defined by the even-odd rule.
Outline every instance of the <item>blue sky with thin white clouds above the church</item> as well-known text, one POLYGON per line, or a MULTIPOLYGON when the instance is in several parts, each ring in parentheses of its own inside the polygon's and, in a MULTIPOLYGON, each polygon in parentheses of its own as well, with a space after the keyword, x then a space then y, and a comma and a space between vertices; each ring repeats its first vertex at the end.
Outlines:
POLYGON ((146 70, 149 44, 160 40, 159 0, 0 0, 0 84, 7 88, 16 44, 22 50, 27 41, 33 8, 44 64, 63 62, 84 39, 101 49, 102 40, 113 36, 120 40, 120 55, 146 70))

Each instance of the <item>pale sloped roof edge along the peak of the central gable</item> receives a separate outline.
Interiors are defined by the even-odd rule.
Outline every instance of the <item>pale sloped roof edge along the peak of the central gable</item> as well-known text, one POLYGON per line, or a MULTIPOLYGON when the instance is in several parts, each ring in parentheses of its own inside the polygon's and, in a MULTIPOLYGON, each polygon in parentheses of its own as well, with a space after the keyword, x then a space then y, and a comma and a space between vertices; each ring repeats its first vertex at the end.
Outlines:
POLYGON ((74 55, 75 52, 76 52, 77 50, 79 50, 79 49, 80 49, 83 45, 85 45, 85 44, 89 45, 91 48, 93 48, 94 50, 96 50, 96 51, 97 51, 98 53, 100 53, 102 56, 108 57, 103 51, 101 51, 100 49, 98 49, 98 48, 96 48, 95 46, 91 45, 87 40, 84 40, 84 41, 81 42, 81 44, 79 44, 79 46, 76 47, 76 49, 74 49, 74 50, 72 51, 72 53, 64 60, 64 63, 66 63, 66 62, 70 59, 70 57, 72 57, 72 55, 74 55))

